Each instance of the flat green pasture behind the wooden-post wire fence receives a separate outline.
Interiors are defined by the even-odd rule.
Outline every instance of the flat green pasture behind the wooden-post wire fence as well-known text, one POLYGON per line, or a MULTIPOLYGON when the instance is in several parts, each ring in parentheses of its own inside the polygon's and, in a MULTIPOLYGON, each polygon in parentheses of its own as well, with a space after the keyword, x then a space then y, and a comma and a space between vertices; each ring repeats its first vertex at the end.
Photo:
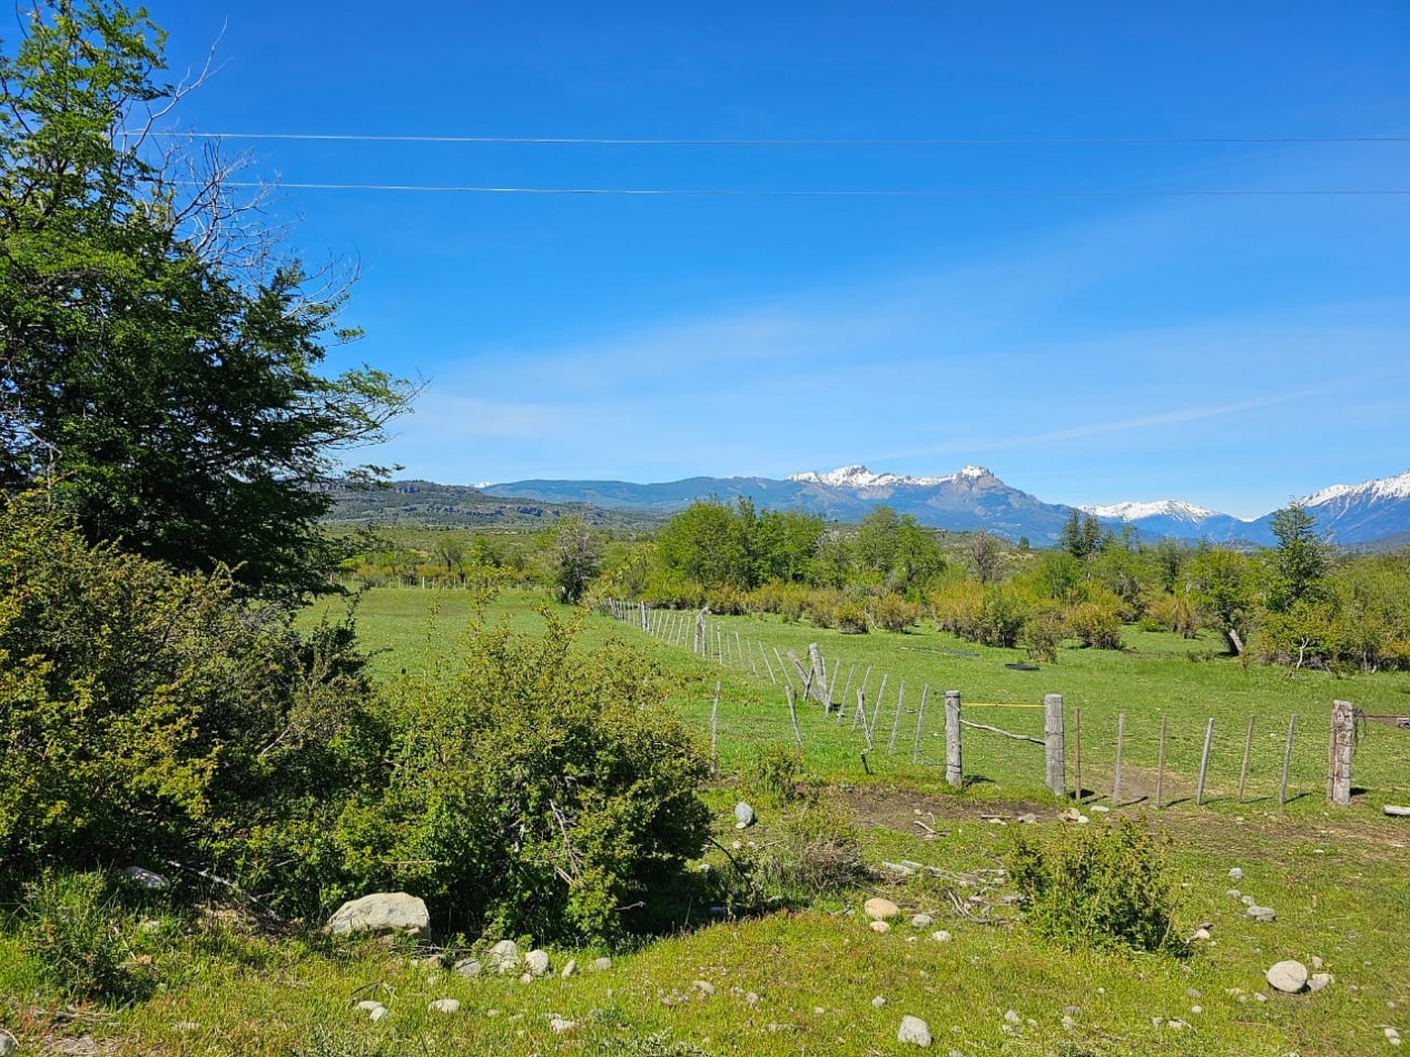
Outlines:
MULTIPOLYGON (((505 593, 488 610, 491 620, 519 626, 537 623, 543 599, 530 593, 505 593)), ((570 613, 554 606, 561 613, 570 613)), ((369 648, 378 650, 376 669, 395 676, 402 669, 420 671, 431 660, 454 655, 457 637, 471 617, 471 600, 458 591, 379 588, 368 592, 358 610, 358 626, 369 648)), ((1039 671, 1014 671, 1005 664, 1022 661, 1018 650, 997 650, 963 643, 935 630, 908 634, 847 636, 777 619, 711 617, 735 653, 735 636, 747 645, 750 661, 730 668, 694 657, 688 648, 644 634, 639 627, 599 614, 582 614, 582 643, 591 647, 608 636, 636 641, 675 678, 671 703, 708 734, 715 684, 721 684, 718 713, 719 757, 730 769, 752 746, 794 740, 783 684, 771 685, 759 645, 780 678, 774 648, 807 657, 818 643, 829 665, 842 665, 838 698, 852 674, 847 709, 840 722, 823 716, 816 705, 799 705, 804 757, 814 774, 828 779, 864 781, 864 737, 853 724, 857 688, 867 678, 869 707, 880 706, 874 750, 866 767, 874 775, 919 785, 939 785, 943 765, 943 691, 959 689, 966 719, 1014 733, 1041 736, 1045 693, 1062 693, 1066 705, 1067 775, 1076 779, 1074 722, 1080 710, 1083 785, 1096 795, 1110 793, 1115 757, 1117 717, 1127 717, 1122 801, 1152 796, 1162 716, 1167 720, 1165 799, 1193 798, 1204 726, 1214 719, 1214 741, 1206 799, 1228 805, 1237 799, 1239 768, 1249 716, 1255 717, 1246 799, 1266 806, 1276 802, 1289 717, 1299 727, 1289 779, 1294 806, 1321 803, 1327 772, 1327 729, 1334 699, 1351 700, 1369 713, 1410 713, 1410 674, 1369 674, 1337 678, 1325 672, 1242 665, 1220 653, 1220 641, 1204 634, 1187 641, 1170 634, 1127 630, 1127 650, 1065 648, 1058 664, 1039 671), (754 675, 757 669, 759 675, 754 675), (884 696, 877 699, 885 676, 884 696), (901 684, 904 706, 895 707, 901 684), (916 709, 922 689, 931 688, 921 761, 912 765, 916 709), (895 754, 888 753, 893 726, 895 754)), ((713 641, 713 630, 711 633, 713 641)), ((964 731, 964 769, 980 796, 1039 795, 1042 750, 986 731, 964 731)), ((1356 748, 1355 785, 1359 799, 1376 810, 1385 801, 1406 799, 1410 791, 1410 731, 1366 726, 1356 748)))

